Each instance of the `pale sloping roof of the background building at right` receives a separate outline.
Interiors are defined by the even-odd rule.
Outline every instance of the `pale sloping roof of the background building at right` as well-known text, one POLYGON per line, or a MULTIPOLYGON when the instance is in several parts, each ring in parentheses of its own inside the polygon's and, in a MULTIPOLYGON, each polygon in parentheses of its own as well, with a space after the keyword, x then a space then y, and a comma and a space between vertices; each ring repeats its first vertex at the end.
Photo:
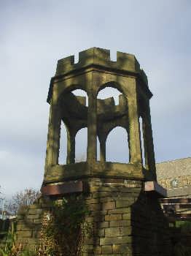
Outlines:
POLYGON ((191 157, 156 164, 157 180, 191 175, 191 157))

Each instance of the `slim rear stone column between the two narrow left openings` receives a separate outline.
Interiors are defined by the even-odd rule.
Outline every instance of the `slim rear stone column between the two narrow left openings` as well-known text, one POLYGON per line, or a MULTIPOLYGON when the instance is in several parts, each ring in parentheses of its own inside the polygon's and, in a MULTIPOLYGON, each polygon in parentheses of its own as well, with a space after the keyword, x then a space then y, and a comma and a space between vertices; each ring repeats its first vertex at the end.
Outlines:
POLYGON ((73 164, 75 162, 75 133, 67 128, 67 159, 66 164, 73 164))

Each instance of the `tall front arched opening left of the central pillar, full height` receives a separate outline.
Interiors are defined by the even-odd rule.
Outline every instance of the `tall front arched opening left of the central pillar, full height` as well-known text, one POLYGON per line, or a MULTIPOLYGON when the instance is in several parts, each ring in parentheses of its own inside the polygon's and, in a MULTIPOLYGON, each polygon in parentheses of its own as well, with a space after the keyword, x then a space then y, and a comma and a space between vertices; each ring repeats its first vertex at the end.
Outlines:
POLYGON ((86 91, 79 87, 78 85, 70 86, 59 98, 61 119, 66 127, 62 122, 58 164, 72 164, 75 158, 77 162, 86 161, 87 145, 84 149, 83 141, 87 142, 87 136, 84 135, 87 132, 82 132, 82 135, 79 132, 80 136, 75 133, 81 127, 87 126, 88 97, 86 91), (82 150, 79 143, 82 145, 82 150))

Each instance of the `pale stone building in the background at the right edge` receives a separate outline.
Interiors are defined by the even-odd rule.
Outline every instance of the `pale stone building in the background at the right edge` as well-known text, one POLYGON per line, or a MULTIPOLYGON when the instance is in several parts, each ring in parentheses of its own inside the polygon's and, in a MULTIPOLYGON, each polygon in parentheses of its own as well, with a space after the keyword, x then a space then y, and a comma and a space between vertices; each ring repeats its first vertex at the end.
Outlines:
POLYGON ((171 222, 191 219, 191 157, 156 164, 157 181, 167 189, 161 206, 171 222))

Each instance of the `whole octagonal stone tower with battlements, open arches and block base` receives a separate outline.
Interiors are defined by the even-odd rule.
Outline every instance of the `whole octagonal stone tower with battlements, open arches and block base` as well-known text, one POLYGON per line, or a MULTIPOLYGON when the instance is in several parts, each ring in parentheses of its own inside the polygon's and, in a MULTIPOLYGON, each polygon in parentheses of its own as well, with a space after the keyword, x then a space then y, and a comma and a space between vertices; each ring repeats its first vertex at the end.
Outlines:
POLYGON ((170 255, 168 223, 157 199, 161 195, 156 183, 151 97, 147 75, 131 54, 117 52, 117 61, 111 61, 109 50, 90 48, 79 53, 77 64, 74 56, 58 61, 47 97, 50 118, 42 196, 83 195, 93 233, 85 238, 82 255, 170 255), (108 86, 121 92, 119 105, 111 98, 97 99, 98 92, 108 86), (87 93, 88 107, 84 97, 72 94, 75 89, 87 93), (67 129, 66 165, 58 164, 61 121, 67 129), (75 136, 83 127, 87 127, 87 161, 75 162, 75 136), (106 138, 115 127, 128 133, 126 164, 106 162, 106 138))

